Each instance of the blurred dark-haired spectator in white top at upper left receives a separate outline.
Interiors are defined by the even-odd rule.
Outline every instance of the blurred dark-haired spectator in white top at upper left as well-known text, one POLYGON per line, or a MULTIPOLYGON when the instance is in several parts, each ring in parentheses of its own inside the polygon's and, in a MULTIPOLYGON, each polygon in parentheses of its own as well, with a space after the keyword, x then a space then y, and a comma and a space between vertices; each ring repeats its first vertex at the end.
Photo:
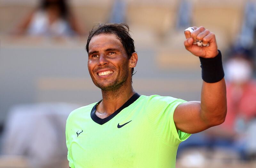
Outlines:
POLYGON ((39 7, 21 21, 14 34, 39 36, 83 35, 66 0, 41 0, 39 7))

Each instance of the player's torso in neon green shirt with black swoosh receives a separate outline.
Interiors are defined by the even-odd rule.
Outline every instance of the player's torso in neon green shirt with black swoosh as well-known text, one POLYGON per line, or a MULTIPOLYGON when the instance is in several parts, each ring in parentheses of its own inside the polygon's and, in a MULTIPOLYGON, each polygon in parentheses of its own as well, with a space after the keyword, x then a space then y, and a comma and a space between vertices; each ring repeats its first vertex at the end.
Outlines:
POLYGON ((104 119, 95 114, 97 103, 72 112, 66 127, 71 168, 175 167, 180 139, 172 115, 185 101, 162 98, 142 95, 104 119))

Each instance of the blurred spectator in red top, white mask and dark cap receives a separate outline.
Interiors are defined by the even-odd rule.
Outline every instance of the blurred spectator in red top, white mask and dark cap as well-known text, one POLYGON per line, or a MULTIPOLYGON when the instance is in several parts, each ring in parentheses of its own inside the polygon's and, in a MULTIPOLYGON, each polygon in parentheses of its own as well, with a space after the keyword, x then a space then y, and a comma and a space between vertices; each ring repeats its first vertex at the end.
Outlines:
POLYGON ((234 47, 225 66, 228 112, 220 126, 191 135, 180 144, 178 154, 191 147, 216 147, 237 152, 242 159, 256 158, 256 81, 252 51, 234 47))

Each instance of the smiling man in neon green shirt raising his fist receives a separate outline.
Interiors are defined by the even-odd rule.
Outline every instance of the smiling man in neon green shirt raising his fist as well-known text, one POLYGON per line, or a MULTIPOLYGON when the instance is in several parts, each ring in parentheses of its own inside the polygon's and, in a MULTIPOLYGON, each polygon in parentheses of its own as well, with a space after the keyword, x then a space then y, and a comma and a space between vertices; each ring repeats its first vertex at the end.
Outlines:
POLYGON ((74 110, 67 125, 71 168, 175 167, 178 145, 190 134, 219 125, 226 116, 226 86, 215 35, 204 27, 185 31, 184 45, 199 56, 204 79, 201 103, 144 96, 132 88, 138 61, 126 24, 98 25, 86 50, 102 100, 74 110), (194 45, 201 40, 208 47, 194 45))

